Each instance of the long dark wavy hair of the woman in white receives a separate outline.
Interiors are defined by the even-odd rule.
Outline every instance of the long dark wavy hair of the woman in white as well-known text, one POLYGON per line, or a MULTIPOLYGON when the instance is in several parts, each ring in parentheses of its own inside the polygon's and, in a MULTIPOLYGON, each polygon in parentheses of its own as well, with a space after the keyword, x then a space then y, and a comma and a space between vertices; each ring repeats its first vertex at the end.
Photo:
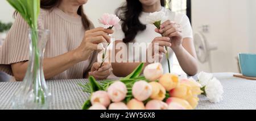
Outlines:
MULTIPOLYGON (((160 0, 161 6, 166 5, 166 0, 160 0)), ((142 12, 142 3, 139 0, 126 0, 115 14, 122 20, 122 30, 125 33, 124 43, 133 41, 139 31, 146 30, 146 25, 139 21, 142 12)))

